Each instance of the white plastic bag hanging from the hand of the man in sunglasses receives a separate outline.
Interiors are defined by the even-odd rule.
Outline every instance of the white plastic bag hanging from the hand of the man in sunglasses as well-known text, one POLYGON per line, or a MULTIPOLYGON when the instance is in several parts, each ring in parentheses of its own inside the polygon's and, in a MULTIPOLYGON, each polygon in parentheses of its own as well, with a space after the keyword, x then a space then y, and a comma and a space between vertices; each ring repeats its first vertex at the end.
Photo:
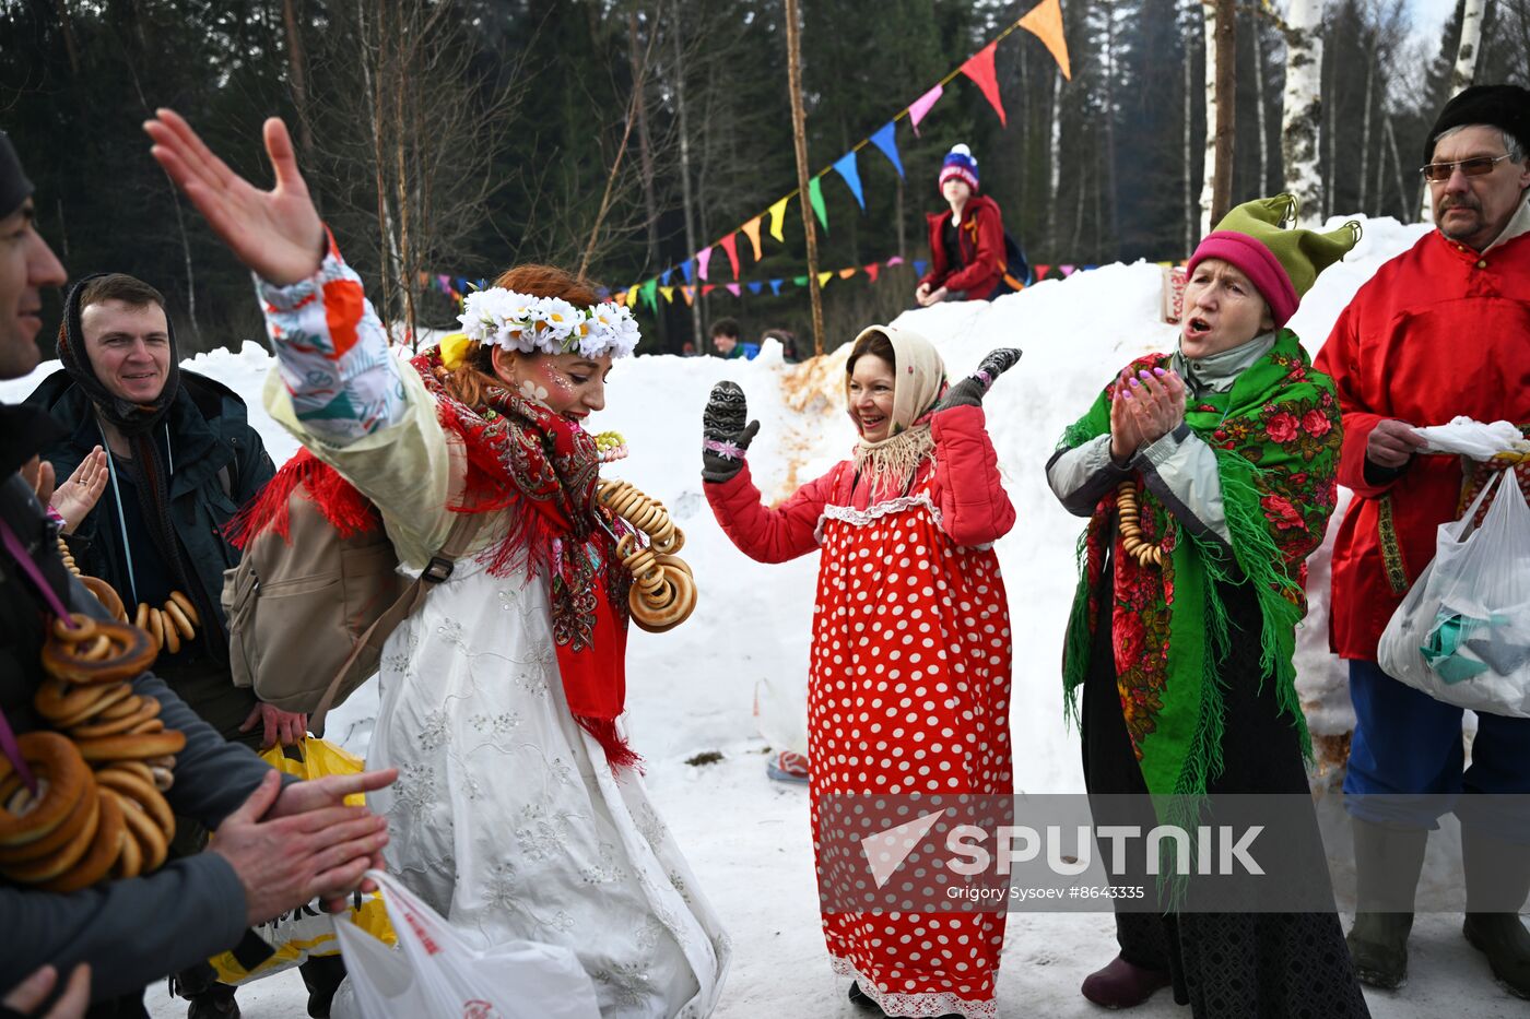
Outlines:
POLYGON ((1460 520, 1440 525, 1435 558, 1392 614, 1377 659, 1437 701, 1530 718, 1530 506, 1512 470, 1483 485, 1460 520))

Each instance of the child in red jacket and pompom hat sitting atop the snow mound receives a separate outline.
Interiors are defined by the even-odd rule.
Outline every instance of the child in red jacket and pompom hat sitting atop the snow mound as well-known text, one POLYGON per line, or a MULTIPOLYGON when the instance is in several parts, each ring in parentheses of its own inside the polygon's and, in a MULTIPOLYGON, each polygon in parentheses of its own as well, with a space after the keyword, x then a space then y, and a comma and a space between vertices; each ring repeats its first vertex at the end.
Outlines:
POLYGON ((953 145, 939 176, 950 210, 929 213, 930 271, 913 300, 920 308, 941 301, 988 301, 1025 286, 1030 271, 1019 245, 1004 233, 999 203, 978 194, 978 159, 967 145, 953 145))

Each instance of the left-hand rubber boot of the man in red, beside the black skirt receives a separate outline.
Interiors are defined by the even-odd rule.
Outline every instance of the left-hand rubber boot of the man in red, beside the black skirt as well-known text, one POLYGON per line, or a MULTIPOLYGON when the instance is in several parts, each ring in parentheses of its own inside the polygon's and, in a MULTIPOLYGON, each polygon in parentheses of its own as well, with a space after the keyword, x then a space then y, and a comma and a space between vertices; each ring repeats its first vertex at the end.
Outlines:
POLYGON ((1408 935, 1429 832, 1351 820, 1356 913, 1345 942, 1362 984, 1397 990, 1408 982, 1408 935))

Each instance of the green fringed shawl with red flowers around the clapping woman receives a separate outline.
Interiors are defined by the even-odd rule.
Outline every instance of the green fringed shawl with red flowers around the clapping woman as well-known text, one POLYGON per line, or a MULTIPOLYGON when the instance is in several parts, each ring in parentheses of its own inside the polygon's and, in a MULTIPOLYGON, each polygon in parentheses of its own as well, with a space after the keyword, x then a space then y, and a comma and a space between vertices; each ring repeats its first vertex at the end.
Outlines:
MULTIPOLYGON (((1155 353, 1134 367, 1167 361, 1155 353)), ((1063 433, 1062 447, 1108 435, 1109 401, 1106 387, 1063 433)), ((1114 536, 1112 646, 1121 711, 1148 791, 1195 797, 1221 773, 1224 685, 1255 681, 1221 672, 1229 633, 1219 583, 1255 584, 1264 623, 1259 664, 1264 676, 1273 675, 1281 711, 1311 757, 1291 656, 1296 624, 1307 615, 1307 557, 1334 510, 1342 427, 1333 379, 1313 369, 1288 329, 1229 392, 1192 398, 1186 424, 1216 453, 1232 554, 1184 528, 1138 474, 1143 537, 1161 543, 1167 558, 1161 569, 1140 566, 1114 536)), ((1074 721, 1100 618, 1103 542, 1115 529, 1115 500, 1114 490, 1100 500, 1079 542, 1080 577, 1063 652, 1074 721)))

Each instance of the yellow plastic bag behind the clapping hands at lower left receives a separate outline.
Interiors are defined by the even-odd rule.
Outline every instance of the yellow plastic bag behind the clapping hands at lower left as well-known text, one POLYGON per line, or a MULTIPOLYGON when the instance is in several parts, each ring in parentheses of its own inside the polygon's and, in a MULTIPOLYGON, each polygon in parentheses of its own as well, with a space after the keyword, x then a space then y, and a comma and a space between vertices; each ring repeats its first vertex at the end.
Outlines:
MULTIPOLYGON (((295 774, 300 779, 320 779, 326 774, 356 774, 364 762, 355 754, 349 754, 335 744, 309 736, 298 747, 271 747, 262 751, 260 757, 278 771, 295 774)), ((356 793, 347 796, 346 803, 361 806, 364 796, 356 793)), ((352 895, 350 920, 384 944, 398 944, 393 926, 387 920, 387 909, 382 906, 381 892, 352 895)), ((243 984, 248 981, 271 976, 282 970, 306 962, 312 956, 338 955, 340 944, 335 941, 335 923, 343 913, 326 913, 315 900, 283 913, 275 920, 256 927, 256 933, 275 949, 275 955, 260 965, 246 970, 233 952, 214 955, 208 962, 217 970, 217 979, 223 984, 243 984)))

